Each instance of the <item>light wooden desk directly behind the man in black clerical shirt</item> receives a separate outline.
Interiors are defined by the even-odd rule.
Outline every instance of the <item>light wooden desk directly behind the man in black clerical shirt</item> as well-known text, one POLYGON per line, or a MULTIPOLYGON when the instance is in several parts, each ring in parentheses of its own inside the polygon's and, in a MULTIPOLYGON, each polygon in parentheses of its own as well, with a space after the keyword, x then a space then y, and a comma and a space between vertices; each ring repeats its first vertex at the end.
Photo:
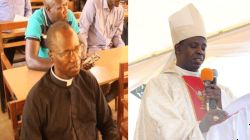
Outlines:
MULTIPOLYGON (((97 53, 101 59, 91 68, 100 85, 117 80, 119 63, 128 62, 128 47, 114 48, 97 53)), ((26 66, 3 71, 7 88, 17 100, 26 99, 33 85, 45 72, 29 70, 26 66)))

